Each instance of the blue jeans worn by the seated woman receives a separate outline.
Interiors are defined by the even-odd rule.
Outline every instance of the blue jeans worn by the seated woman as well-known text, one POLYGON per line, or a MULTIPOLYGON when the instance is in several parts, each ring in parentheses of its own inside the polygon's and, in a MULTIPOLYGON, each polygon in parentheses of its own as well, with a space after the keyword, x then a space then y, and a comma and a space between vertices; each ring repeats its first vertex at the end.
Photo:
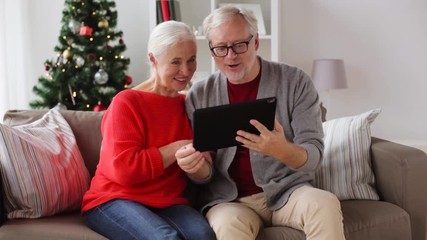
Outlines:
POLYGON ((215 239, 206 219, 188 205, 151 208, 116 199, 84 213, 86 225, 109 239, 215 239))

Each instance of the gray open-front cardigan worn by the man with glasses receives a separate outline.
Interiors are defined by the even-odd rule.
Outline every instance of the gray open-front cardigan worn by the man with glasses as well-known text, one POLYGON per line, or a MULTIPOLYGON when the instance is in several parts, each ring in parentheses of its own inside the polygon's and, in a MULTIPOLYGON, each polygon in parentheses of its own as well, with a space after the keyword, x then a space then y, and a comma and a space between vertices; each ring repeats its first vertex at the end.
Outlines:
MULTIPOLYGON (((285 129, 286 139, 304 147, 308 153, 304 166, 291 169, 275 158, 250 151, 255 183, 264 190, 267 206, 277 210, 287 202, 293 190, 310 184, 321 161, 323 130, 319 96, 310 77, 302 70, 259 59, 262 72, 257 99, 276 96, 276 118, 285 129)), ((186 109, 192 122, 194 109, 228 103, 227 78, 217 71, 190 88, 186 109)), ((236 147, 217 150, 214 174, 199 188, 198 202, 202 210, 237 198, 236 184, 228 174, 235 153, 236 147)))

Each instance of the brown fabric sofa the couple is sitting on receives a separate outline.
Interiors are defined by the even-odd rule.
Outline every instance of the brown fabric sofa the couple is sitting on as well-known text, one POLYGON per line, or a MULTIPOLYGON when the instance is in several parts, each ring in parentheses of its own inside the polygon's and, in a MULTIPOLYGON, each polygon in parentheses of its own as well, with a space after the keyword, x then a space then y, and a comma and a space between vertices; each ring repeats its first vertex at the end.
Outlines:
MULTIPOLYGON (((10 110, 4 115, 3 124, 30 123, 46 112, 10 110)), ((69 123, 85 166, 93 176, 99 158, 103 112, 60 112, 69 123)), ((346 239, 426 240, 426 154, 372 137, 370 157, 380 199, 341 201, 346 239)), ((0 239, 105 239, 85 226, 78 210, 37 219, 6 219, 2 207, 0 216, 0 239)), ((288 227, 266 227, 258 239, 305 239, 305 235, 288 227)))

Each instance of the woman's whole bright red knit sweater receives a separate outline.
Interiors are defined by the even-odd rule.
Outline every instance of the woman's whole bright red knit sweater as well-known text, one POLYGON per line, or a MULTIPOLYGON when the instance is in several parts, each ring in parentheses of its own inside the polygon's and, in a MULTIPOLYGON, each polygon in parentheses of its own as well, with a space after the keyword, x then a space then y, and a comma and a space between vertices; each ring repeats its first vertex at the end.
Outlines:
POLYGON ((102 119, 100 161, 82 212, 113 199, 157 208, 188 203, 185 173, 176 163, 164 169, 158 150, 192 138, 184 100, 136 90, 114 97, 102 119))

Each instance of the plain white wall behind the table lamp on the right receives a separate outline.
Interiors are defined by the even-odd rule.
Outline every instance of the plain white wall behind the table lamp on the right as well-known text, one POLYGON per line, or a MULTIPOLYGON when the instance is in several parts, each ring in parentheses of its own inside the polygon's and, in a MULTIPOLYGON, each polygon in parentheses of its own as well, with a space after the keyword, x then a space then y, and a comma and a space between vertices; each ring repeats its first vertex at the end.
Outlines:
POLYGON ((342 58, 349 88, 321 93, 328 118, 382 108, 378 137, 427 151, 427 1, 285 0, 281 60, 311 73, 342 58))

